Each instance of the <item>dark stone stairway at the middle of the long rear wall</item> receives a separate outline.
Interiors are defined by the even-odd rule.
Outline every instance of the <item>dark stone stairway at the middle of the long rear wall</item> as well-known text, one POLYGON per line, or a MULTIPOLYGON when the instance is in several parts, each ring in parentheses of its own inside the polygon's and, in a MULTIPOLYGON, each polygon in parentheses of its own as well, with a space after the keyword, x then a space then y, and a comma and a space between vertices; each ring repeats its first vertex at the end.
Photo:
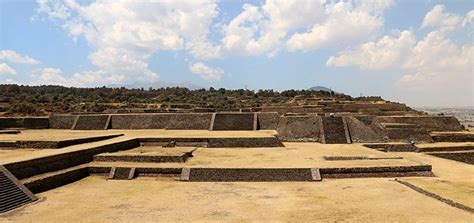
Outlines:
POLYGON ((215 113, 211 130, 257 130, 256 113, 215 113))

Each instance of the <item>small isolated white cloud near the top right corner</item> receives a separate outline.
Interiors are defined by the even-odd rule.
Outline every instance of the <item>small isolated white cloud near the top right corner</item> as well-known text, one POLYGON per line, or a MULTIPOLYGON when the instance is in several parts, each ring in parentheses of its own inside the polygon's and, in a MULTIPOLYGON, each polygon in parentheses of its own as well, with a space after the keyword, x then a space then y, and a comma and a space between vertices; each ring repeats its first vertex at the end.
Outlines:
POLYGON ((444 11, 444 5, 436 5, 429 11, 421 27, 433 27, 442 31, 455 29, 461 23, 461 17, 444 11))

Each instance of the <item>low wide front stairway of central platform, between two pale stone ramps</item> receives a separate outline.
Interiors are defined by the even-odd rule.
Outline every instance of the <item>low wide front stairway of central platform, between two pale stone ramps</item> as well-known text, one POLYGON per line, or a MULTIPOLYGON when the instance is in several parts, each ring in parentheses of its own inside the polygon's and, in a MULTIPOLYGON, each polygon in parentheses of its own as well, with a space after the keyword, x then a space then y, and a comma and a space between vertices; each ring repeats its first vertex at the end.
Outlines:
POLYGON ((311 168, 184 168, 183 181, 321 181, 311 168))

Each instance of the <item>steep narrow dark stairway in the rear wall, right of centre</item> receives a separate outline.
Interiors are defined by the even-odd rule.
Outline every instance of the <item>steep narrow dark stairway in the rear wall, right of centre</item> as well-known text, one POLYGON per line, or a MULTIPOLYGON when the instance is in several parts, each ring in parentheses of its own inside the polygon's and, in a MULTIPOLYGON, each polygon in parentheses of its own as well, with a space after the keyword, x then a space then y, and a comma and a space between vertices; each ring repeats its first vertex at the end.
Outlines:
POLYGON ((351 143, 344 117, 322 117, 323 138, 327 144, 351 143))

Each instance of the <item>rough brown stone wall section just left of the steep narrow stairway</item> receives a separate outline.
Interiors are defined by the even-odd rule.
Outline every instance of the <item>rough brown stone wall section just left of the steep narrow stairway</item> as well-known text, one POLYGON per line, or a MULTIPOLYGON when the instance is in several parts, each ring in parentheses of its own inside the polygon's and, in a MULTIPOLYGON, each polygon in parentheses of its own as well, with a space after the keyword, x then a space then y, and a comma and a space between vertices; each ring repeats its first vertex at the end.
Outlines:
POLYGON ((281 116, 278 123, 278 138, 282 141, 317 142, 321 134, 321 117, 281 116))

